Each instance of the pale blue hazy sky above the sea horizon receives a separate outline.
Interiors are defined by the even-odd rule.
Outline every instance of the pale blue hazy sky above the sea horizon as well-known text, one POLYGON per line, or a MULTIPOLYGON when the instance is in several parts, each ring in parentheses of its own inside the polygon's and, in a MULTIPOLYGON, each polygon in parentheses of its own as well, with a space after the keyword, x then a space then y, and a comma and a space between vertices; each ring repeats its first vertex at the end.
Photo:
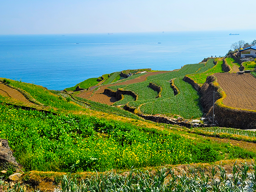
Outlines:
POLYGON ((1 0, 0 34, 256 30, 256 0, 1 0))

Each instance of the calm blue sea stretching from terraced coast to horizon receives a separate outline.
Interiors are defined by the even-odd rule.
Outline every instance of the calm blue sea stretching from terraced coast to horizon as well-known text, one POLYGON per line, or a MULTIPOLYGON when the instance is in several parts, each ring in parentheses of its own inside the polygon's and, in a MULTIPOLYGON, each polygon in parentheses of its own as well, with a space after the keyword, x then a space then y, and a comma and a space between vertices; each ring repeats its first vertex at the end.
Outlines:
POLYGON ((255 30, 1 35, 0 77, 63 90, 125 69, 178 69, 224 56, 238 40, 254 39, 255 30))

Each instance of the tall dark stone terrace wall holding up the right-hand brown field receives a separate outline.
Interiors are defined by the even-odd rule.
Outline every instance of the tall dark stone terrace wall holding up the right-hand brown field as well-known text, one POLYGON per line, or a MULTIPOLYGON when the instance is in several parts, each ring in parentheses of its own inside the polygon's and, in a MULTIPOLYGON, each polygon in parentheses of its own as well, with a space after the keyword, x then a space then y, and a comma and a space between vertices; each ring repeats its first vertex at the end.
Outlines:
POLYGON ((226 97, 225 92, 216 82, 216 77, 208 76, 206 82, 200 90, 201 104, 206 117, 213 115, 213 91, 215 91, 215 120, 219 126, 232 127, 239 129, 255 129, 256 128, 256 112, 252 110, 241 110, 231 108, 222 104, 222 100, 226 97))

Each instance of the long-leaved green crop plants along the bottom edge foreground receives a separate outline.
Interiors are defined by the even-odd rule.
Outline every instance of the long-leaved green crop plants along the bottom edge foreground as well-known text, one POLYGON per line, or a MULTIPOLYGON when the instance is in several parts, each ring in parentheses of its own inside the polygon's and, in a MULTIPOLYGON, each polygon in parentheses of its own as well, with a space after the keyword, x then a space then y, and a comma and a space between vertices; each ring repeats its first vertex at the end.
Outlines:
MULTIPOLYGON (((161 168, 155 173, 149 171, 130 170, 124 175, 114 171, 97 173, 91 178, 80 181, 64 175, 56 184, 56 192, 254 192, 256 190, 256 165, 234 164, 230 170, 222 165, 187 166, 179 175, 174 169, 161 168)), ((177 172, 177 171, 176 171, 177 172)), ((4 184, 0 180, 0 184, 4 184)), ((5 186, 8 190, 8 186, 5 186)), ((22 186, 15 186, 23 191, 22 186)))

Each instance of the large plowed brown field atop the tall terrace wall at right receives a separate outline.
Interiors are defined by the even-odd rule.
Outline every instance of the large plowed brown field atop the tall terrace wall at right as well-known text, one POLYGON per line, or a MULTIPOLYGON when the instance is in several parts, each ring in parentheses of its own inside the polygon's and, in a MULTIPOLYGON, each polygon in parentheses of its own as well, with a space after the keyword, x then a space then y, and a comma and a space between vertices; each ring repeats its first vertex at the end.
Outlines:
POLYGON ((226 93, 226 106, 256 110, 256 78, 251 74, 215 73, 217 82, 226 93))

